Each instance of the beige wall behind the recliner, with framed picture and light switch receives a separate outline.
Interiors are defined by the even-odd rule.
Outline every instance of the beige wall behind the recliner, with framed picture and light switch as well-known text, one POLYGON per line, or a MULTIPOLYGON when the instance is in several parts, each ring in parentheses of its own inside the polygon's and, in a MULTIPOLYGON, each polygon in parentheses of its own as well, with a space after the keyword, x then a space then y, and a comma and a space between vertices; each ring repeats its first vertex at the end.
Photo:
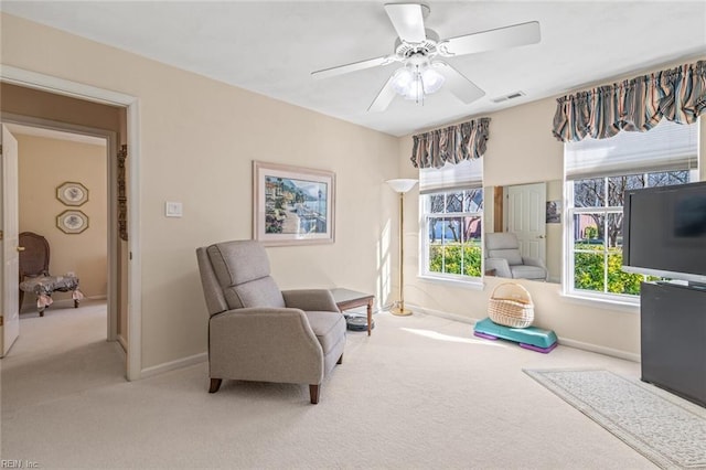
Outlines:
MULTIPOLYGON (((252 161, 336 173, 336 241, 268 249, 280 287, 388 288, 398 139, 3 14, 2 63, 136 96, 142 368, 206 351, 194 249, 252 236, 252 161), (164 202, 183 203, 181 218, 164 202)), ((387 299, 385 299, 387 300, 387 299)))

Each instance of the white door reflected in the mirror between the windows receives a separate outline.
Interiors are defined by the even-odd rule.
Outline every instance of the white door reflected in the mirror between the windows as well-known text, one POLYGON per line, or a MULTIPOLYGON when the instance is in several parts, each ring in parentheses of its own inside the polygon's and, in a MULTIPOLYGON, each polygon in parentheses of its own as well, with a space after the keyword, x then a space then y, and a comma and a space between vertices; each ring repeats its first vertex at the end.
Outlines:
POLYGON ((507 232, 517 235, 522 256, 546 261, 546 183, 507 188, 507 232))

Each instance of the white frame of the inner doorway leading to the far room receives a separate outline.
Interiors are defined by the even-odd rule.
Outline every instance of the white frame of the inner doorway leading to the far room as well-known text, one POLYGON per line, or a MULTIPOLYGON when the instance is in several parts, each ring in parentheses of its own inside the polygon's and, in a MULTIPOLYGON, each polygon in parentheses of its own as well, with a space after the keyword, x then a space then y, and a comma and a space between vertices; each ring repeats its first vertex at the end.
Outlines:
POLYGON ((118 237, 117 233, 117 161, 116 156, 118 151, 118 136, 111 130, 98 129, 88 126, 78 126, 67 122, 55 121, 51 119, 35 118, 32 116, 22 116, 10 113, 2 113, 0 120, 7 124, 18 124, 29 127, 38 127, 42 129, 58 130, 62 132, 79 133, 83 136, 99 137, 106 139, 106 178, 108 189, 108 205, 106 211, 108 213, 107 225, 107 243, 106 249, 108 253, 108 322, 107 322, 107 339, 108 341, 117 341, 118 339, 118 296, 119 277, 118 265, 120 259, 117 257, 118 253, 118 237))

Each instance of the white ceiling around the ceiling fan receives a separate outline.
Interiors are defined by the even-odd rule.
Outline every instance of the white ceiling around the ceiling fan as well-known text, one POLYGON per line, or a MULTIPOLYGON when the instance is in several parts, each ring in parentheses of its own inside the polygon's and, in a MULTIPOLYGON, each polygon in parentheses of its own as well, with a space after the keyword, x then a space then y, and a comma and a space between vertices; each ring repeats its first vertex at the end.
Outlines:
MULTIPOLYGON (((320 81, 321 68, 391 54, 385 1, 9 1, 0 10, 394 136, 706 54, 700 1, 427 1, 441 39, 538 21, 539 44, 452 57, 485 90, 463 105, 441 89, 424 106, 367 107, 399 66, 320 81), (515 92, 525 96, 494 104, 515 92)), ((96 64, 99 66, 99 64, 96 64)))

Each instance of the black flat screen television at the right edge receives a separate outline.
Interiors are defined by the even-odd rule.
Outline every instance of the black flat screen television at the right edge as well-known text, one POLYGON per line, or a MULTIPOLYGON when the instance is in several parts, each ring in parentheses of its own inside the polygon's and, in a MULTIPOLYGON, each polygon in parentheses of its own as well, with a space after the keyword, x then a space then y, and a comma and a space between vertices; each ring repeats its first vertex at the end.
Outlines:
POLYGON ((706 284, 706 182, 625 192, 622 266, 706 284))

